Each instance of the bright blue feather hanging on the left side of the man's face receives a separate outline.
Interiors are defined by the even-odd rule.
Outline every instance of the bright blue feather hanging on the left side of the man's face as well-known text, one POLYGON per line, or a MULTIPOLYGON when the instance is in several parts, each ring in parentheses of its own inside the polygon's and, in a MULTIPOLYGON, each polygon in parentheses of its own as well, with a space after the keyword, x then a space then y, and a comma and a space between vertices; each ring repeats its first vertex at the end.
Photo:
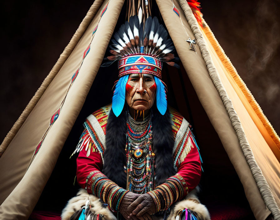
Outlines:
POLYGON ((127 82, 128 82, 128 75, 121 77, 114 91, 112 109, 113 109, 113 113, 117 117, 120 115, 120 113, 123 110, 123 105, 125 101, 125 86, 127 82))

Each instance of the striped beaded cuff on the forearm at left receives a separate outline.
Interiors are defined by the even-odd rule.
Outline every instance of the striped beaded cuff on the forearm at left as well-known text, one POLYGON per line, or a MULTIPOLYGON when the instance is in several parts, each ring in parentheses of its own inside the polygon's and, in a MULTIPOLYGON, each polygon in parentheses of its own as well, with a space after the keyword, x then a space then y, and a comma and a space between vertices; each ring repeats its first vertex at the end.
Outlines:
POLYGON ((100 171, 90 172, 86 179, 86 189, 89 194, 93 194, 108 204, 111 211, 117 212, 119 205, 128 192, 109 180, 100 171))

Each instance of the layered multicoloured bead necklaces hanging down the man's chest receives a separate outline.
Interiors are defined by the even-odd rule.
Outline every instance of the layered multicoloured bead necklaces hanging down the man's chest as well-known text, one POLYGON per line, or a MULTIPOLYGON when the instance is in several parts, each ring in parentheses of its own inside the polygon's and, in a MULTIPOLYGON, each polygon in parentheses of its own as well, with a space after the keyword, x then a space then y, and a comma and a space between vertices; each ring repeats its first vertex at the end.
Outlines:
POLYGON ((126 111, 126 121, 127 189, 143 194, 154 188, 152 113, 144 121, 137 122, 126 111))

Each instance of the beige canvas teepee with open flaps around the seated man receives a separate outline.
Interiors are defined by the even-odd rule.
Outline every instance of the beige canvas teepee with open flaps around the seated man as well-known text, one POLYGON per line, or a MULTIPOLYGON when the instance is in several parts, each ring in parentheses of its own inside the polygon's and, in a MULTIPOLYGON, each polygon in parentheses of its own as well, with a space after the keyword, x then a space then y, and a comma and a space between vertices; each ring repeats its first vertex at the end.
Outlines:
MULTIPOLYGON (((28 219, 57 169, 59 155, 58 163, 61 163, 65 151, 75 149, 73 141, 80 135, 74 132, 78 124, 81 125, 87 114, 111 102, 112 94, 107 91, 115 79, 114 67, 105 69, 100 65, 119 25, 119 17, 125 15, 124 2, 94 1, 57 63, 2 142, 1 219, 28 219)), ((195 1, 154 3, 181 60, 178 72, 170 67, 164 70, 164 81, 169 86, 168 102, 195 124, 202 158, 210 164, 205 165, 205 173, 211 166, 213 175, 222 172, 224 161, 230 161, 244 189, 242 192, 238 189, 236 195, 246 195, 254 217, 280 219, 278 135, 201 17, 195 1), (195 39, 196 44, 192 46, 196 51, 189 49, 188 37, 195 39), (218 160, 216 165, 213 158, 215 163, 218 160)), ((67 163, 63 160, 64 169, 67 163)), ((60 173, 56 179, 58 185, 73 185, 65 180, 64 174, 60 173)), ((222 182, 221 175, 220 178, 216 181, 222 182)), ((203 181, 207 185, 213 179, 203 181)))

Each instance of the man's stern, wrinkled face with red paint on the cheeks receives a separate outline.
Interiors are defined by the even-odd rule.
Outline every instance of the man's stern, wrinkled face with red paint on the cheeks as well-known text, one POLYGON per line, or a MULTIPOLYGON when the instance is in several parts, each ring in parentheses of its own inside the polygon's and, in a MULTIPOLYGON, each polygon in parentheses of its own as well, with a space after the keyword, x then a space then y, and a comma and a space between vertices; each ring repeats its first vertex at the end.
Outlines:
POLYGON ((125 99, 134 110, 146 111, 153 106, 156 83, 152 75, 135 73, 129 75, 125 99))

